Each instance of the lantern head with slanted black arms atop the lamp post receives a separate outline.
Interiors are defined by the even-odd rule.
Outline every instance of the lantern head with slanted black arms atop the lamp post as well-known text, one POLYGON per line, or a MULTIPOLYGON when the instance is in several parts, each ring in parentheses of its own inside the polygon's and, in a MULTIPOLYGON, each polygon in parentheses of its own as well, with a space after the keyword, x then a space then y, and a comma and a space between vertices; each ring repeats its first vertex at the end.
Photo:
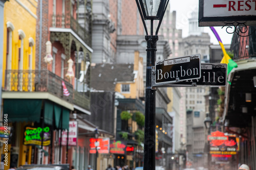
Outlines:
POLYGON ((156 35, 159 31, 163 15, 166 11, 169 0, 136 0, 137 7, 143 22, 143 26, 147 33, 147 28, 145 24, 145 20, 151 20, 151 35, 153 35, 153 21, 159 20, 156 35))

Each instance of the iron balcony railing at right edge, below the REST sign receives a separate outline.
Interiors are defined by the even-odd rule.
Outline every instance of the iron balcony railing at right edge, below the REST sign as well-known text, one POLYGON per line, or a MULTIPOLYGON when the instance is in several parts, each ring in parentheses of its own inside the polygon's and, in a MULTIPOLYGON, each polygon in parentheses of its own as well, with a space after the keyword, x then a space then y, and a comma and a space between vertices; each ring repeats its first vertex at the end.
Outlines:
POLYGON ((256 57, 256 27, 239 27, 238 34, 233 34, 230 51, 234 54, 233 60, 256 57), (249 35, 249 36, 248 36, 249 35))

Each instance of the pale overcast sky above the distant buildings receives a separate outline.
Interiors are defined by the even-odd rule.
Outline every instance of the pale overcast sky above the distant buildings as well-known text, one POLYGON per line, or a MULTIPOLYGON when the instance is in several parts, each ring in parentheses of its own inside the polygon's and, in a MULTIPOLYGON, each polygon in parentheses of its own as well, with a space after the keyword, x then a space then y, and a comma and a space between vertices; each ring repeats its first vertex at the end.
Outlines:
MULTIPOLYGON (((213 0, 212 0, 213 1, 213 0)), ((188 18, 191 17, 191 12, 198 8, 198 0, 170 0, 170 11, 176 11, 176 27, 182 29, 182 37, 188 36, 188 18)), ((215 27, 223 44, 230 44, 233 34, 228 34, 226 28, 215 27)), ((214 44, 219 44, 215 35, 211 32, 209 27, 204 27, 204 32, 209 33, 210 41, 214 44)))

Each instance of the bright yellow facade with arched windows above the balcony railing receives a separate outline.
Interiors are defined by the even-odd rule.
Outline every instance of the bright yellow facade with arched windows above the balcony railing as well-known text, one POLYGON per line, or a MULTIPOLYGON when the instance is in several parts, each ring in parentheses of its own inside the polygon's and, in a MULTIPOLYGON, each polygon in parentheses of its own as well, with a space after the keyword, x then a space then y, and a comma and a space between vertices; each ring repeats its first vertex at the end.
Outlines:
POLYGON ((36 8, 35 0, 5 3, 3 87, 6 69, 35 69, 36 8))

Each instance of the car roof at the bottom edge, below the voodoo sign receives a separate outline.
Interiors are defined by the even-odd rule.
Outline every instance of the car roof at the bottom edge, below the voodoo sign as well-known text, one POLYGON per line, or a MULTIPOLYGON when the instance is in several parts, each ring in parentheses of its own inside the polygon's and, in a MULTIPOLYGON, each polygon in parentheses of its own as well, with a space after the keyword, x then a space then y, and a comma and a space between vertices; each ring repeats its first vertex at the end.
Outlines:
POLYGON ((22 165, 16 168, 16 170, 69 170, 69 164, 30 164, 22 165))

